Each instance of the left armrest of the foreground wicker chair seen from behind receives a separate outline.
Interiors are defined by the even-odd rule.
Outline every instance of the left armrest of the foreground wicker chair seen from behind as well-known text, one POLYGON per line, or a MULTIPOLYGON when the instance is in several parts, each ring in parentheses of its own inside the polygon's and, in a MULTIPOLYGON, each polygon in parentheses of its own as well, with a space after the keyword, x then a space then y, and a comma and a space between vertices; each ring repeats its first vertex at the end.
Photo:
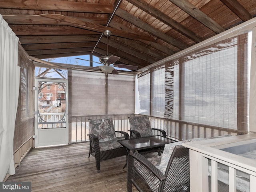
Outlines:
MULTIPOLYGON (((131 166, 131 158, 134 158, 135 160, 137 160, 138 162, 141 163, 141 166, 143 166, 143 168, 140 168, 140 170, 143 170, 142 172, 152 172, 160 181, 164 181, 166 180, 166 176, 164 176, 164 174, 158 169, 156 168, 149 160, 147 160, 144 156, 142 156, 141 154, 139 154, 138 152, 132 152, 130 151, 130 153, 128 154, 128 169, 130 169, 131 167, 129 167, 129 165, 131 166)), ((132 166, 132 168, 134 168, 132 166)))

